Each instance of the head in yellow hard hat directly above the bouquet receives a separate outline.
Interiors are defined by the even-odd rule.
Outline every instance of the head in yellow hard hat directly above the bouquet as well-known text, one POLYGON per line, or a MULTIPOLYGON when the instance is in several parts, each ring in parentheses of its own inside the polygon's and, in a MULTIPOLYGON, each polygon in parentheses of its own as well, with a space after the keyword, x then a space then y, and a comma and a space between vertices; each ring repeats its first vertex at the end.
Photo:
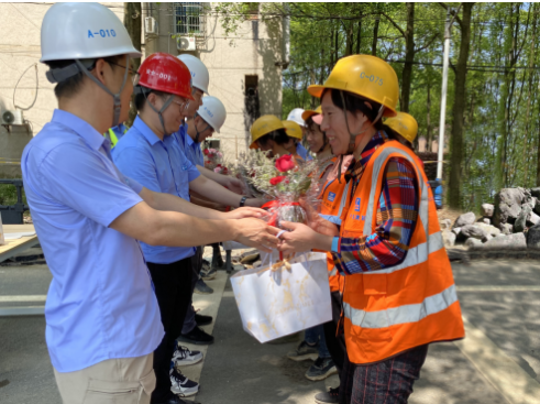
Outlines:
MULTIPOLYGON (((285 122, 282 122, 273 114, 265 114, 258 118, 251 127, 252 143, 250 149, 261 149, 264 152, 269 151, 271 157, 293 154, 296 163, 301 164, 304 160, 298 154, 288 151, 295 144, 293 137, 297 135, 296 128, 291 128, 288 121, 285 122), (285 122, 287 122, 289 128, 286 127, 285 122)), ((298 123, 291 123, 298 127, 301 135, 301 129, 298 123)))

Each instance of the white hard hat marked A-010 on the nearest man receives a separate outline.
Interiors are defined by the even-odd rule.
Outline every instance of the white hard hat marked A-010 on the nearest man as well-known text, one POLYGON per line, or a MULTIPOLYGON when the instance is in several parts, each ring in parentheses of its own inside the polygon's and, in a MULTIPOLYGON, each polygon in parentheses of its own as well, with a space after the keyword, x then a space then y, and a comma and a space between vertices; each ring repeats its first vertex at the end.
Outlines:
POLYGON ((141 57, 122 21, 99 3, 55 3, 43 18, 40 62, 141 57))

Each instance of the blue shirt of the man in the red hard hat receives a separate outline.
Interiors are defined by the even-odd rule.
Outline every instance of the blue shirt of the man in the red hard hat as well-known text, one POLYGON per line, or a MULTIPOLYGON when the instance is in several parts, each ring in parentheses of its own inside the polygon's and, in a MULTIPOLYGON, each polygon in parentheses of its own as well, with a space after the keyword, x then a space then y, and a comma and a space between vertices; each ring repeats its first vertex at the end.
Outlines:
MULTIPOLYGON (((165 193, 189 201, 189 183, 200 174, 174 145, 175 139, 163 141, 139 117, 133 127, 112 150, 112 159, 123 175, 156 193, 165 193)), ((141 242, 147 262, 169 264, 195 254, 192 247, 148 245, 141 242)))

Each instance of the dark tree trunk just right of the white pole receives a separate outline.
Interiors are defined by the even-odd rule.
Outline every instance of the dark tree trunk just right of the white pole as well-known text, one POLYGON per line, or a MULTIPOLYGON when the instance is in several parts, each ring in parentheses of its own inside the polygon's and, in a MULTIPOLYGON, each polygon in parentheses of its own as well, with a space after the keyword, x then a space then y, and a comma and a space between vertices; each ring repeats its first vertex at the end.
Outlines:
POLYGON ((454 105, 452 107, 452 138, 448 201, 451 208, 461 208, 461 163, 463 157, 463 117, 465 112, 465 84, 469 46, 471 43, 471 12, 474 3, 463 3, 460 56, 455 65, 454 105))

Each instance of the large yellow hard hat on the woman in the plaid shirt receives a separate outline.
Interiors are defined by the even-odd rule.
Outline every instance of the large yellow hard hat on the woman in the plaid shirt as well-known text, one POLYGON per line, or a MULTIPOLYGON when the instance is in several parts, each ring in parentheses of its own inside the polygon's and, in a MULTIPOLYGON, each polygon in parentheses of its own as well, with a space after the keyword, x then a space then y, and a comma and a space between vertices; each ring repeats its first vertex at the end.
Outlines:
POLYGON ((371 55, 352 55, 338 61, 322 86, 311 85, 308 92, 321 98, 327 88, 349 91, 385 107, 384 117, 395 117, 399 97, 396 72, 385 61, 371 55))

